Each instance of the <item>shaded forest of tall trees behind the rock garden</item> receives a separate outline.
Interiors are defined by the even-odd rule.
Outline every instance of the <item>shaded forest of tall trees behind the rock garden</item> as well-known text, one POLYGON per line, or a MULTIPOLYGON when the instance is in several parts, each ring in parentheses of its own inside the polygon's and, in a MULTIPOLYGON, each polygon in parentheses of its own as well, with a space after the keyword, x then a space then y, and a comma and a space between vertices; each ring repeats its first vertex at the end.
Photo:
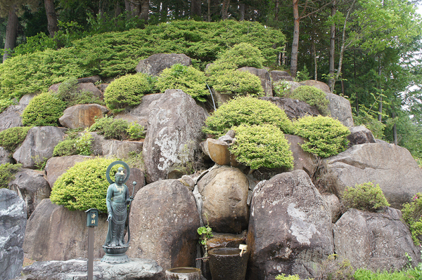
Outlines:
POLYGON ((420 2, 0 0, 0 48, 6 60, 173 20, 260 22, 286 35, 271 69, 326 82, 350 100, 355 125, 421 158, 420 2))

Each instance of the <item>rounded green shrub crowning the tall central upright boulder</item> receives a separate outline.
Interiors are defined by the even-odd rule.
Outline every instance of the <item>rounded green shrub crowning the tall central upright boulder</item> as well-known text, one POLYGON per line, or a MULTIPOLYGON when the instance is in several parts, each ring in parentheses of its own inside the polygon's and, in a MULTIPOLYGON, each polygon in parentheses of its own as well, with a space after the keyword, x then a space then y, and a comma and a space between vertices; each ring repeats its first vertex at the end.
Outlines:
POLYGON ((162 70, 158 77, 156 87, 163 93, 166 89, 181 89, 192 98, 205 102, 205 96, 210 95, 207 90, 206 77, 203 72, 192 66, 180 63, 162 70))

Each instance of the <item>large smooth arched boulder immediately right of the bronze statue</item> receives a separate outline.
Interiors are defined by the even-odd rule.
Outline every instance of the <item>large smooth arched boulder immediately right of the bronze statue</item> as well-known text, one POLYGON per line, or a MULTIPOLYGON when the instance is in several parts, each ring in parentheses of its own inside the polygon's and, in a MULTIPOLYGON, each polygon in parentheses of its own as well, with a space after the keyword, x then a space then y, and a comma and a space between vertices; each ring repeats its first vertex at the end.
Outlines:
POLYGON ((179 180, 143 187, 132 202, 130 258, 152 258, 164 269, 195 265, 200 226, 196 201, 179 180))

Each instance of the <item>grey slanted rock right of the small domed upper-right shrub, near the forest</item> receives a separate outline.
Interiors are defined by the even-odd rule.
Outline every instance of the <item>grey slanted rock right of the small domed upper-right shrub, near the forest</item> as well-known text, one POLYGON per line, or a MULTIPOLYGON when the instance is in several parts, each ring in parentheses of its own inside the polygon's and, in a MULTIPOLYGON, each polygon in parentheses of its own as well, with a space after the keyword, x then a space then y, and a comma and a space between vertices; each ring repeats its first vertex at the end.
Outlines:
POLYGON ((344 126, 353 127, 353 114, 350 101, 343 96, 333 93, 326 93, 327 99, 330 101, 328 110, 331 112, 333 119, 338 119, 344 126))

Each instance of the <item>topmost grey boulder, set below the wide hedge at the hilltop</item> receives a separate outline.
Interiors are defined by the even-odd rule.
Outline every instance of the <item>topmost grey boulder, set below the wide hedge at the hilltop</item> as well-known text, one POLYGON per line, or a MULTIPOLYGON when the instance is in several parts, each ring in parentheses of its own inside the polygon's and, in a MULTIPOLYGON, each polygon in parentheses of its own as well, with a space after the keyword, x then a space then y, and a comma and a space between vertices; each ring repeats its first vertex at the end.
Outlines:
POLYGON ((190 66, 192 65, 192 60, 183 53, 156 53, 139 61, 138 65, 136 65, 136 72, 158 76, 162 70, 170 68, 177 63, 190 66))

